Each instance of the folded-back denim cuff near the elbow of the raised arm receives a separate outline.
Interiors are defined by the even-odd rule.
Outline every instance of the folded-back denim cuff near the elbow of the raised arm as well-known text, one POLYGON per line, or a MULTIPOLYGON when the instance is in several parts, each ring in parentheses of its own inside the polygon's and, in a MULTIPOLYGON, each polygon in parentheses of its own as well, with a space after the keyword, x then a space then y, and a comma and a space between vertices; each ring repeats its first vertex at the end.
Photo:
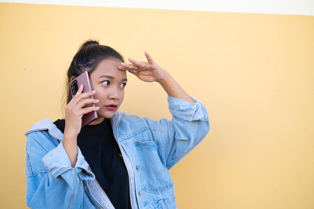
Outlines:
POLYGON ((168 96, 170 113, 177 118, 194 121, 203 120, 208 121, 206 109, 200 101, 191 97, 194 104, 191 104, 183 99, 168 96))

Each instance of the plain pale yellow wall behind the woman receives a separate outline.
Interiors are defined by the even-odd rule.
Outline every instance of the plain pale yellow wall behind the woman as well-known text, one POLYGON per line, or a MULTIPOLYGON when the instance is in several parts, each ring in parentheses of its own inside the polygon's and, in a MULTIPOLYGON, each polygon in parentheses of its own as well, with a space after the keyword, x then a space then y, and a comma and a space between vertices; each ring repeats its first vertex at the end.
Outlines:
MULTIPOLYGON (((90 38, 147 50, 206 105, 209 135, 171 170, 180 209, 314 208, 314 17, 23 4, 0 4, 0 208, 26 208, 23 133, 62 117, 90 38)), ((121 110, 170 118, 159 85, 128 79, 121 110)))

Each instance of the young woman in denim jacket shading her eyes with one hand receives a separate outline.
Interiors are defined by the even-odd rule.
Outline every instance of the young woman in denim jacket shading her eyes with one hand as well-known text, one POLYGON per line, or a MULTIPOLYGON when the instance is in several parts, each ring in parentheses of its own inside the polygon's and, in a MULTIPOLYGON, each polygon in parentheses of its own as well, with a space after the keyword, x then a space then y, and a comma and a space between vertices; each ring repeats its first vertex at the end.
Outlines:
MULTIPOLYGON (((31 208, 177 208, 169 169, 209 131, 203 104, 190 97, 145 52, 147 62, 122 56, 96 41, 85 42, 68 70, 68 83, 87 71, 93 91, 72 98, 65 119, 46 118, 25 134, 27 205, 31 208), (168 94, 172 121, 117 111, 126 71, 158 82, 168 94), (93 98, 91 98, 93 96, 93 98), (84 107, 94 103, 94 107, 84 107), (81 127, 82 116, 98 119, 81 127)), ((140 97, 141 98, 141 97, 140 97)), ((153 110, 152 110, 153 111, 153 110)))

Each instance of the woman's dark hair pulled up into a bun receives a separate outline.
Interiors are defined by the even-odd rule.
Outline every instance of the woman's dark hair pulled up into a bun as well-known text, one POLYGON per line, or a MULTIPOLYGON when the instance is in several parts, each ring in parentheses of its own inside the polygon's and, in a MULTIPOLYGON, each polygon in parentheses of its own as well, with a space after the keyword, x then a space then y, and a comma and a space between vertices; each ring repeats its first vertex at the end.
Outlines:
POLYGON ((123 57, 117 51, 111 47, 100 45, 98 41, 88 40, 82 44, 78 52, 73 57, 67 73, 66 104, 68 104, 72 99, 69 85, 71 77, 78 77, 84 71, 87 71, 90 75, 98 66, 99 62, 105 59, 117 59, 124 62, 123 57))

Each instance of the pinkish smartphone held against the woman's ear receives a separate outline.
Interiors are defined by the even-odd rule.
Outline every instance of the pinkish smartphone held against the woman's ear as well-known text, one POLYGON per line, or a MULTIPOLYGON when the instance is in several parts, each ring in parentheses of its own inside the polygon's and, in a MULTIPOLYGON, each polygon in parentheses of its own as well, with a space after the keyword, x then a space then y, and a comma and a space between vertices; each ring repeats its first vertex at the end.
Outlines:
MULTIPOLYGON (((83 84, 84 86, 82 93, 92 91, 92 88, 90 87, 90 82, 89 82, 87 71, 85 71, 84 73, 76 77, 76 79, 70 82, 72 98, 75 96, 81 84, 83 84)), ((93 98, 93 96, 91 96, 90 98, 93 98)), ((91 107, 91 106, 95 106, 95 104, 94 103, 86 104, 84 107, 91 107)), ((98 118, 98 115, 96 111, 92 111, 87 114, 84 114, 82 117, 82 127, 96 120, 97 118, 98 118)))

